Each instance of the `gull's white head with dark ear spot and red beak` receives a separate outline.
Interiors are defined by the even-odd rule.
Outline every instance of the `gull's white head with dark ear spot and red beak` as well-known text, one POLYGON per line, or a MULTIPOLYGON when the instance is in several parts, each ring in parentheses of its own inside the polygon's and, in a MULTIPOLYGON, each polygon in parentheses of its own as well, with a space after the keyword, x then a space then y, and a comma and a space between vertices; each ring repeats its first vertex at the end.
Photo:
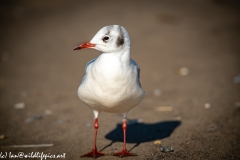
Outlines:
POLYGON ((85 48, 93 48, 104 53, 117 52, 130 48, 130 38, 124 27, 106 26, 100 29, 91 41, 78 45, 74 50, 85 48))

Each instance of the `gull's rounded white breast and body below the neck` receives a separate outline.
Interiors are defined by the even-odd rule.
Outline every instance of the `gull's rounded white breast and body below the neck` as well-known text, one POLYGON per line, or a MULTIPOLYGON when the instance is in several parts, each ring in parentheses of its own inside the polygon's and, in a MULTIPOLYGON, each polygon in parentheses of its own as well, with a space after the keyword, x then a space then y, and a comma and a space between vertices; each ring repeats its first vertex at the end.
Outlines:
POLYGON ((116 56, 100 56, 88 66, 85 78, 78 96, 97 111, 126 113, 145 95, 138 85, 137 68, 116 56))

